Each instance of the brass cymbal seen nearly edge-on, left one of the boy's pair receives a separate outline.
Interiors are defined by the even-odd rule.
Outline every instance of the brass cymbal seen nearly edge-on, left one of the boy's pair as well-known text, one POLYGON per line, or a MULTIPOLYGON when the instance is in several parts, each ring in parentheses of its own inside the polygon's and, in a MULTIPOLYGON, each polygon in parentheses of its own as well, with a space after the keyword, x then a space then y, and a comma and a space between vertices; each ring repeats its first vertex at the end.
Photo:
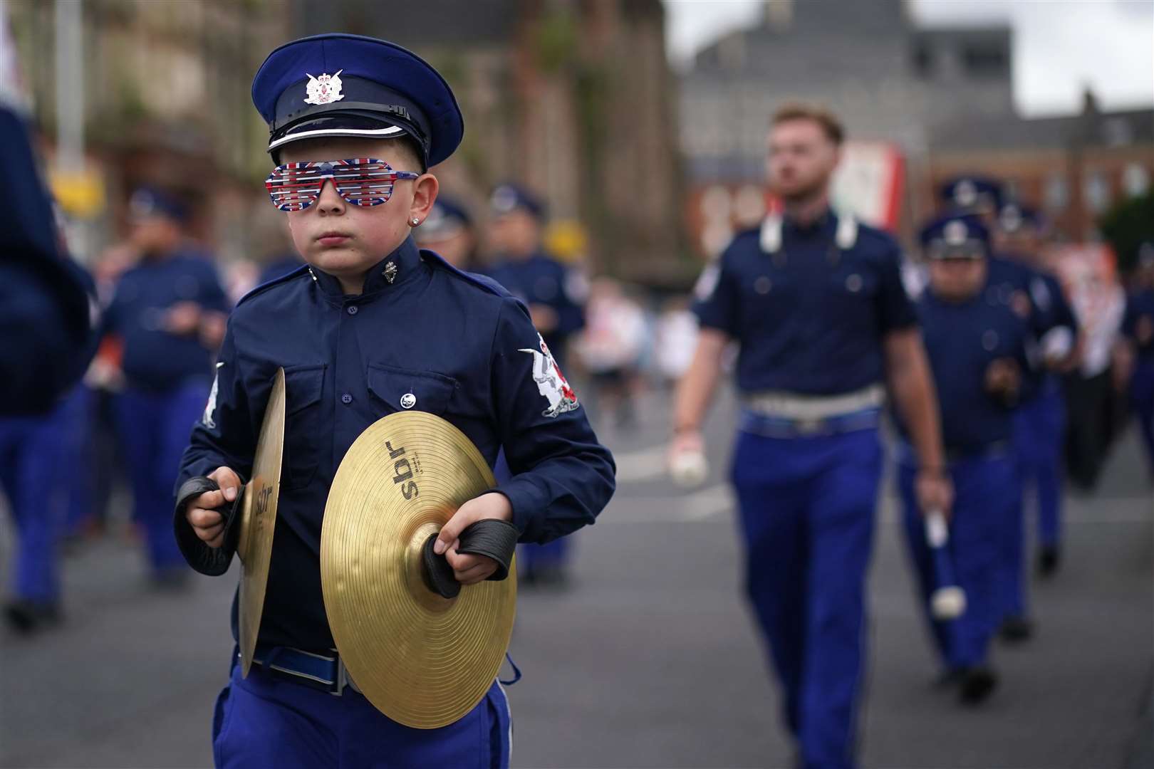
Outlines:
POLYGON ((285 370, 277 369, 269 405, 256 442, 253 477, 245 484, 241 500, 240 540, 240 657, 247 678, 253 666, 256 635, 264 611, 264 590, 269 583, 272 534, 277 526, 277 498, 280 495, 280 460, 285 438, 285 370))

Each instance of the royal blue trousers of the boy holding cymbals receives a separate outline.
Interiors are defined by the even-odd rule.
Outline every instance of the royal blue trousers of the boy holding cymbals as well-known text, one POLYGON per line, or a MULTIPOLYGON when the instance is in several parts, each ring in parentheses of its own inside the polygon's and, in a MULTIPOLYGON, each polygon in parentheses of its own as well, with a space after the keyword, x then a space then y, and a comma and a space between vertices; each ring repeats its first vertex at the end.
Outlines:
POLYGON ((218 769, 504 769, 512 727, 496 681, 456 723, 410 729, 345 691, 334 696, 253 665, 241 678, 233 664, 212 717, 218 769))

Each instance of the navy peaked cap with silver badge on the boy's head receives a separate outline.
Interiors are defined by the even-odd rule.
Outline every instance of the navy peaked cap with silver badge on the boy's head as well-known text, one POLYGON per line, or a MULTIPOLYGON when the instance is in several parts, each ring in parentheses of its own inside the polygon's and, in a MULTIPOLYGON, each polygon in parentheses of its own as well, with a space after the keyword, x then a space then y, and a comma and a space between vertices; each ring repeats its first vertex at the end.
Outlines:
POLYGON ((409 135, 434 166, 460 144, 464 118, 443 77, 399 45, 360 35, 316 35, 269 54, 253 78, 269 151, 302 138, 409 135))

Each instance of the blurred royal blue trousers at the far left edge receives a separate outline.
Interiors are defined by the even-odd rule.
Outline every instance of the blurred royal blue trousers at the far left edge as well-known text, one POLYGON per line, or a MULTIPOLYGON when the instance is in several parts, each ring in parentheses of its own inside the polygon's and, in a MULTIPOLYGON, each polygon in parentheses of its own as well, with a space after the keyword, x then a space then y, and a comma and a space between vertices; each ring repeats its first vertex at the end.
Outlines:
POLYGON ((68 505, 68 459, 75 394, 44 416, 0 420, 0 485, 16 528, 13 597, 60 600, 59 541, 68 505))

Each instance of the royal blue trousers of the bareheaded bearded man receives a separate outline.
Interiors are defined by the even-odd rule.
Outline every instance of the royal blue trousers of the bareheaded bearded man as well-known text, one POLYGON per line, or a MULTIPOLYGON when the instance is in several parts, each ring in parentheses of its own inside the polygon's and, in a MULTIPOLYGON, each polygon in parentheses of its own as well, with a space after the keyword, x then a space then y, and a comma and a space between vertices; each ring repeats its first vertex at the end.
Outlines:
POLYGON ((876 429, 802 438, 739 432, 732 478, 745 589, 808 768, 854 766, 881 474, 876 429))

